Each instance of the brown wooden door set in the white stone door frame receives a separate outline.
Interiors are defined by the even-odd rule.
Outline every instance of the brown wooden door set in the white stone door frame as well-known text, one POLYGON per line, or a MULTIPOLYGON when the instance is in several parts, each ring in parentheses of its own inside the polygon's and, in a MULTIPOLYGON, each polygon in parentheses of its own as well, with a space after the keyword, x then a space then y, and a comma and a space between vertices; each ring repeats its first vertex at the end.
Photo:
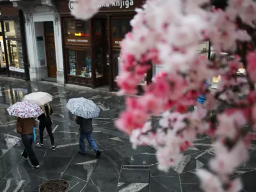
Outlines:
POLYGON ((56 78, 57 66, 54 43, 54 29, 52 21, 44 22, 44 37, 48 77, 56 78))

